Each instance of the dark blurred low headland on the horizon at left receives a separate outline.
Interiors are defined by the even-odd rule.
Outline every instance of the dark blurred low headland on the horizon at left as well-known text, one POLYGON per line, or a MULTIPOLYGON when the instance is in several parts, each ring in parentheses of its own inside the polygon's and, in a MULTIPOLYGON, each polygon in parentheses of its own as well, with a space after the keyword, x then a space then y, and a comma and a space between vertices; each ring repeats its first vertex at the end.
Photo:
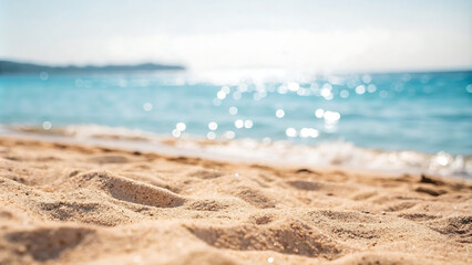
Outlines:
POLYGON ((185 66, 182 65, 166 65, 155 63, 143 64, 115 64, 115 65, 66 65, 66 66, 51 66, 33 63, 21 63, 13 61, 0 60, 0 75, 4 74, 39 74, 47 73, 116 73, 116 72, 142 72, 142 71, 183 71, 185 66))

